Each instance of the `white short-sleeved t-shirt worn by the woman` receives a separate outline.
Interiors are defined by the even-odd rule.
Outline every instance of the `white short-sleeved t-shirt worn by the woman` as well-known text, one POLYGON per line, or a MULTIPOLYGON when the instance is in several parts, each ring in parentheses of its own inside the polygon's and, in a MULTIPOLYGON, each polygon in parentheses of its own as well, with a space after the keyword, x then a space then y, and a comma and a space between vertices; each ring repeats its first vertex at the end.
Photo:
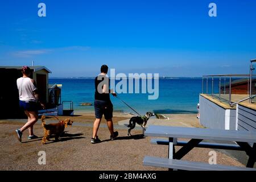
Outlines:
POLYGON ((33 93, 37 88, 32 83, 31 78, 20 77, 17 79, 17 87, 19 90, 20 101, 34 101, 36 102, 35 94, 33 93))

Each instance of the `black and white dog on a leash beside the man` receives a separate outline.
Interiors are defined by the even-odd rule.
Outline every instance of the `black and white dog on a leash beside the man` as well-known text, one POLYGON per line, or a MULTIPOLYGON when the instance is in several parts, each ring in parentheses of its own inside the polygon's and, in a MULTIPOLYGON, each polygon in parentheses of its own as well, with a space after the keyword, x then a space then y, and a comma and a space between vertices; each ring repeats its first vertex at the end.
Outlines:
POLYGON ((126 125, 127 127, 130 127, 130 129, 128 129, 128 136, 131 135, 131 130, 134 129, 136 123, 142 127, 144 135, 144 132, 146 131, 145 126, 147 125, 147 121, 151 116, 154 115, 154 113, 147 112, 146 115, 132 117, 129 121, 129 125, 126 125))

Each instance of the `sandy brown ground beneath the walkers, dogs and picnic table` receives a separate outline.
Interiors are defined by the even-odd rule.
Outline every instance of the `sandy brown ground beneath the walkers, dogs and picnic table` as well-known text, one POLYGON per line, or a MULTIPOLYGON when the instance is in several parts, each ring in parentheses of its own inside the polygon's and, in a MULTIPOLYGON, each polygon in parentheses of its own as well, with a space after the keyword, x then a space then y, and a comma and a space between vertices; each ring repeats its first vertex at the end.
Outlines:
MULTIPOLYGON (((34 127, 39 138, 28 140, 26 131, 22 143, 16 139, 14 130, 22 126, 26 119, 0 120, 0 170, 167 170, 143 166, 143 158, 146 155, 167 157, 168 146, 150 144, 151 137, 143 137, 140 127, 135 127, 132 131, 133 136, 128 137, 127 129, 122 123, 130 117, 129 114, 114 113, 114 127, 119 132, 116 140, 110 140, 103 119, 98 131, 102 142, 98 144, 90 143, 93 113, 76 113, 69 117, 74 121, 74 125, 65 129, 65 134, 59 142, 50 141, 45 145, 41 144, 43 128, 40 120, 34 127), (38 164, 39 151, 46 152, 46 165, 38 164)), ((172 114, 168 117, 170 120, 152 119, 149 124, 200 127, 195 114, 172 114)), ((50 117, 47 118, 47 122, 56 122, 56 119, 50 117)), ((209 148, 194 148, 184 160, 208 162, 210 151, 212 150, 209 148)), ((218 164, 243 166, 238 160, 223 152, 216 152, 218 164)))

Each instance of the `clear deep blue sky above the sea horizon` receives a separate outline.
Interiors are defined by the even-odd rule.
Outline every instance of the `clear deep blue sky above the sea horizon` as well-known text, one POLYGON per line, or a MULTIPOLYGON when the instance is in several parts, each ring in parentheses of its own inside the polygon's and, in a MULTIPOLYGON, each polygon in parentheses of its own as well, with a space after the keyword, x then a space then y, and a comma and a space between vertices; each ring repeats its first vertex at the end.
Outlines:
POLYGON ((34 60, 52 77, 94 76, 102 64, 160 76, 249 73, 255 10, 254 0, 1 1, 0 65, 34 60))

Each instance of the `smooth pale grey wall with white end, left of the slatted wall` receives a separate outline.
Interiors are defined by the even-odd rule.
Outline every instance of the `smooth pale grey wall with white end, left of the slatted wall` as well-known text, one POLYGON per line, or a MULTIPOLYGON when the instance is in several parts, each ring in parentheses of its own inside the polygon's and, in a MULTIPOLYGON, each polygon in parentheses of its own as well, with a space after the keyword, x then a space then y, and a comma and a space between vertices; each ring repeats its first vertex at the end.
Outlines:
POLYGON ((224 109, 201 95, 199 97, 201 125, 210 129, 236 130, 236 109, 224 109))

